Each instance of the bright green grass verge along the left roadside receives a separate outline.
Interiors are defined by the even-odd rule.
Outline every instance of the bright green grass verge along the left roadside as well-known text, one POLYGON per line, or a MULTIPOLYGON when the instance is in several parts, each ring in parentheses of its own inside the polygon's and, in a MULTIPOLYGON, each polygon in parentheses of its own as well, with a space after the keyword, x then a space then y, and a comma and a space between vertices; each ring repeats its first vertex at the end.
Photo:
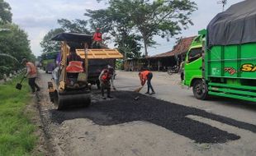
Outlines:
POLYGON ((36 146, 36 126, 30 122, 31 113, 25 112, 30 90, 26 80, 21 90, 16 89, 19 80, 0 85, 0 156, 31 155, 36 146))

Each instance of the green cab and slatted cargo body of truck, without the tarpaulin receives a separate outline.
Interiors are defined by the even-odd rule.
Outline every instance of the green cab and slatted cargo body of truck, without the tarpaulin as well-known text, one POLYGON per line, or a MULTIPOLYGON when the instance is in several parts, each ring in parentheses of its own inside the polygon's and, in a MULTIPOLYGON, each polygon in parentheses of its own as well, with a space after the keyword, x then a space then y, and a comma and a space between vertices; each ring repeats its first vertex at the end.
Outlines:
POLYGON ((187 51, 183 84, 197 99, 208 94, 256 102, 255 43, 206 48, 201 30, 187 51))

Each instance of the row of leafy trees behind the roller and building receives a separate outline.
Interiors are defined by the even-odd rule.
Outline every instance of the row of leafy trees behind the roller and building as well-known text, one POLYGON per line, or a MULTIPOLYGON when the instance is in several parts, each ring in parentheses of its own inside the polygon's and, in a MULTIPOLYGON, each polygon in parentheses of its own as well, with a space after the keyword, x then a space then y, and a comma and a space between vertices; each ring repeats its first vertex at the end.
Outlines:
POLYGON ((197 4, 190 0, 97 0, 107 8, 86 10, 88 21, 60 19, 60 28, 50 30, 40 43, 43 52, 59 50, 59 44, 50 41, 60 32, 92 34, 101 28, 105 42, 111 40, 126 58, 148 56, 148 47, 157 42, 154 36, 169 40, 193 25, 191 15, 197 4))

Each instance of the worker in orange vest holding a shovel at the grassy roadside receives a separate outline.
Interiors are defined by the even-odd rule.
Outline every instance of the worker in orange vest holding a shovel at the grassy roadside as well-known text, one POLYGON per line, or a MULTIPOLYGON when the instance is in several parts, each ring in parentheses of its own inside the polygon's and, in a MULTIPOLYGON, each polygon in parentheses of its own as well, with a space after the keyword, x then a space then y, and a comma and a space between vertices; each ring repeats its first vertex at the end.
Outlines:
POLYGON ((24 77, 28 78, 28 85, 31 86, 32 93, 40 91, 40 87, 36 84, 36 66, 32 62, 28 62, 26 58, 22 59, 21 64, 26 66, 26 75, 24 77))

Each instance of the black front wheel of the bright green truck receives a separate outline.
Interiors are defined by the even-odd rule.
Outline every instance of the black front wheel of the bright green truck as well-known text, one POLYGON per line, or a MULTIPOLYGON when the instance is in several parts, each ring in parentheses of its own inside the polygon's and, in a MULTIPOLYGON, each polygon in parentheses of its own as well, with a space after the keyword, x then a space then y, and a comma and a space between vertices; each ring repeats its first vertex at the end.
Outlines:
POLYGON ((196 80, 193 83, 193 94, 197 99, 207 99, 208 90, 202 80, 196 80))

